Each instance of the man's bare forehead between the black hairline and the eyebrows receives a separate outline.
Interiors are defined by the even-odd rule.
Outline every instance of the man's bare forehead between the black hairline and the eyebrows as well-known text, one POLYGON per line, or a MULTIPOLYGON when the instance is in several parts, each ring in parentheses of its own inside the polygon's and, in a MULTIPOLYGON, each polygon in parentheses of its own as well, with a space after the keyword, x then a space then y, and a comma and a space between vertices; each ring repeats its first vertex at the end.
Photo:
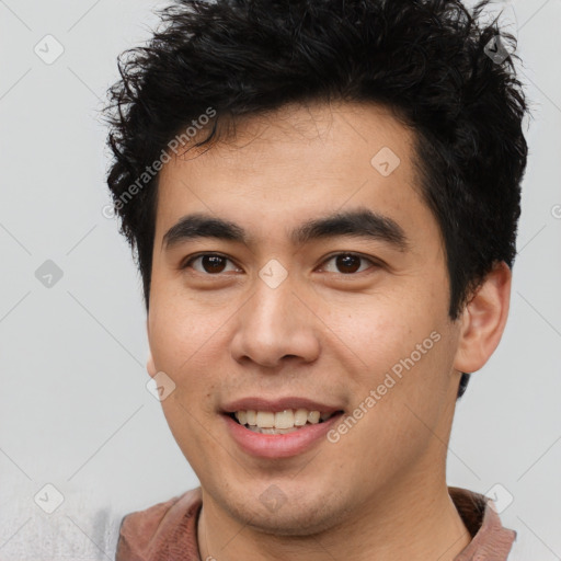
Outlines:
POLYGON ((357 207, 404 222, 404 229, 416 224, 426 230, 434 222, 415 176, 413 133, 383 106, 287 105, 234 127, 226 140, 194 148, 162 168, 160 243, 192 213, 243 224, 257 240, 357 207))

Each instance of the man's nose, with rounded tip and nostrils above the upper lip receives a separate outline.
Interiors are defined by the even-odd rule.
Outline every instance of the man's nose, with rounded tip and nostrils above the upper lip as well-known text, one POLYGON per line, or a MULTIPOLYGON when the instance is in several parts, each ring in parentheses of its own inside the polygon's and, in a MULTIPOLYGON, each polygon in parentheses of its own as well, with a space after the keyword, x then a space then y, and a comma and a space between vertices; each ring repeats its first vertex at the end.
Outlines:
POLYGON ((319 356, 321 321, 288 276, 272 288, 256 279, 253 295, 236 314, 231 353, 236 360, 278 368, 286 360, 311 363, 319 356))

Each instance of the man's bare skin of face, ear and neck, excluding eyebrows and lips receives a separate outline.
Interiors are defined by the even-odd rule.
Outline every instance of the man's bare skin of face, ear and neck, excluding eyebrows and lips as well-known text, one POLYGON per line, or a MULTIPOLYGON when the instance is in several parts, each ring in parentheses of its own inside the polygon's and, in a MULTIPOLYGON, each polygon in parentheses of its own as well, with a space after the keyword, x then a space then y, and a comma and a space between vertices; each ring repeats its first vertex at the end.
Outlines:
POLYGON ((287 105, 162 169, 148 371, 176 385, 162 408, 203 489, 203 560, 445 561, 469 543, 447 492, 447 443, 460 373, 481 368, 500 342, 511 272, 497 264, 450 321, 442 236, 420 195, 412 141, 378 105, 287 105), (401 160, 389 176, 370 164, 382 147, 401 160), (398 222, 408 251, 288 238, 306 220, 357 207, 398 222), (252 243, 162 248, 194 211, 237 222, 252 243), (199 252, 227 256, 225 271, 201 260, 181 268, 199 252), (365 257, 358 272, 337 267, 332 254, 345 252, 365 257), (288 271, 275 289, 259 276, 271 259, 288 271), (225 431, 220 407, 249 396, 301 396, 351 413, 432 332, 442 339, 336 443, 259 459, 225 431), (272 484, 286 499, 275 512, 260 501, 272 484))

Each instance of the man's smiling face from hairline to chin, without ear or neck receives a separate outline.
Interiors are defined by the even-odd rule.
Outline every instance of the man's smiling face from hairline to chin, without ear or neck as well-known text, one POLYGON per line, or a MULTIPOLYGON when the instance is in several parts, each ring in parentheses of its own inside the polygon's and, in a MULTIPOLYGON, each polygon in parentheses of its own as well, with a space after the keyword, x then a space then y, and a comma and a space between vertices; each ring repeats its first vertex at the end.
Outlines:
POLYGON ((208 508, 308 534, 442 477, 459 330, 412 140, 379 106, 291 106, 162 170, 148 334, 176 386, 165 417, 208 508), (354 211, 373 214, 370 236, 365 221, 362 236, 302 236, 354 211), (238 236, 193 236, 193 224, 165 236, 193 214, 238 236), (343 413, 284 435, 228 415, 261 410, 267 424, 284 409, 343 413))

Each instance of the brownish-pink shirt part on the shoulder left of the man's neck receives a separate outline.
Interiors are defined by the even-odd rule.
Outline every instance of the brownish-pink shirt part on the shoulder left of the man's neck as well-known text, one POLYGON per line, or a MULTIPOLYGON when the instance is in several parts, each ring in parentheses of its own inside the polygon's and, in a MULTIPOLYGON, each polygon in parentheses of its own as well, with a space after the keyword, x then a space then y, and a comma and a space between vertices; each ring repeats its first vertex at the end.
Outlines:
POLYGON ((121 522, 115 561, 156 561, 170 545, 176 548, 180 542, 186 548, 185 553, 187 549, 197 552, 196 518, 201 505, 201 488, 196 488, 127 514, 121 522))

